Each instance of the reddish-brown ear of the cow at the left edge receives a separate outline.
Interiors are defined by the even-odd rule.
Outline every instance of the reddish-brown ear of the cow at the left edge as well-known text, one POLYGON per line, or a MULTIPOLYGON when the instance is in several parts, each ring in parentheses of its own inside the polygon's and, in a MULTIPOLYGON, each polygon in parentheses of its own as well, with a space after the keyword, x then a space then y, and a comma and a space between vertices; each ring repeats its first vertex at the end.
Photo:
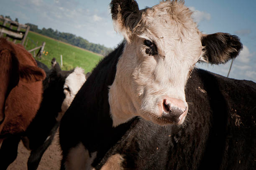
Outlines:
POLYGON ((43 69, 31 65, 20 65, 19 72, 20 78, 27 82, 41 81, 46 77, 43 69))

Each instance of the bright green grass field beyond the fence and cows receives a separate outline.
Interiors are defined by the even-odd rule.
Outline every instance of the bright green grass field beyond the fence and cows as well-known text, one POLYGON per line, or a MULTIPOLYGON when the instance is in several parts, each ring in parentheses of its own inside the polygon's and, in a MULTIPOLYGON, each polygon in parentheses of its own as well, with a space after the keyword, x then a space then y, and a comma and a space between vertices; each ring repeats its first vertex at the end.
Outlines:
MULTIPOLYGON (((27 50, 31 50, 36 46, 40 46, 42 42, 46 42, 44 47, 44 54, 41 59, 36 57, 36 60, 39 60, 46 64, 48 67, 51 66, 51 59, 53 57, 56 58, 57 62, 61 62, 60 55, 63 58, 63 67, 62 70, 70 70, 74 67, 82 67, 84 72, 90 72, 95 67, 95 65, 102 58, 101 55, 96 53, 81 49, 79 47, 75 47, 69 45, 67 43, 60 42, 58 40, 51 39, 44 35, 40 35, 35 32, 28 32, 28 43, 26 45, 27 50), (38 42, 38 45, 36 45, 38 42), (47 53, 46 53, 47 52, 47 53)), ((26 41, 25 41, 26 42, 26 41)), ((24 44, 25 45, 25 44, 24 44)), ((38 50, 36 50, 37 54, 38 50)), ((33 52, 32 52, 33 55, 33 52)))

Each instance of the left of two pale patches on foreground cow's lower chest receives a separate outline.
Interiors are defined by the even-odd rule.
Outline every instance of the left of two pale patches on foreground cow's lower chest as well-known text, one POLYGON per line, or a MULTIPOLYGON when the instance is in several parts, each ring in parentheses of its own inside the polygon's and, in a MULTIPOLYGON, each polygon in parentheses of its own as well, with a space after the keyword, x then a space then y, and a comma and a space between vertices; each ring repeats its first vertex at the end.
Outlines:
POLYGON ((91 154, 82 143, 79 143, 75 148, 69 150, 67 160, 64 163, 66 170, 95 170, 92 167, 92 162, 96 158, 97 152, 91 154))

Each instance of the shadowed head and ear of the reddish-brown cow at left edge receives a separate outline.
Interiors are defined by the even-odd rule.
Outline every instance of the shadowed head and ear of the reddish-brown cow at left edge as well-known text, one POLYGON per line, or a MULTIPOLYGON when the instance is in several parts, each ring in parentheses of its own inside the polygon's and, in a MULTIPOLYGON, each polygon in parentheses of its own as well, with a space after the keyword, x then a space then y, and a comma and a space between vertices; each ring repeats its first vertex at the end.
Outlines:
POLYGON ((4 120, 5 100, 20 80, 36 82, 46 77, 44 70, 36 65, 20 64, 14 44, 0 38, 0 124, 4 120))

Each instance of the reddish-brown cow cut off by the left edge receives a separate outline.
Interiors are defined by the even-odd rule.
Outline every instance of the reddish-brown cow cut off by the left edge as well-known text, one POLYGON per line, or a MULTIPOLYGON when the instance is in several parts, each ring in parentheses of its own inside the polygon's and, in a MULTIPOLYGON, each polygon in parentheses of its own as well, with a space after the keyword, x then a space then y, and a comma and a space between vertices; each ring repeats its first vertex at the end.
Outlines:
POLYGON ((21 45, 0 38, 0 145, 23 133, 40 106, 44 70, 21 45))

